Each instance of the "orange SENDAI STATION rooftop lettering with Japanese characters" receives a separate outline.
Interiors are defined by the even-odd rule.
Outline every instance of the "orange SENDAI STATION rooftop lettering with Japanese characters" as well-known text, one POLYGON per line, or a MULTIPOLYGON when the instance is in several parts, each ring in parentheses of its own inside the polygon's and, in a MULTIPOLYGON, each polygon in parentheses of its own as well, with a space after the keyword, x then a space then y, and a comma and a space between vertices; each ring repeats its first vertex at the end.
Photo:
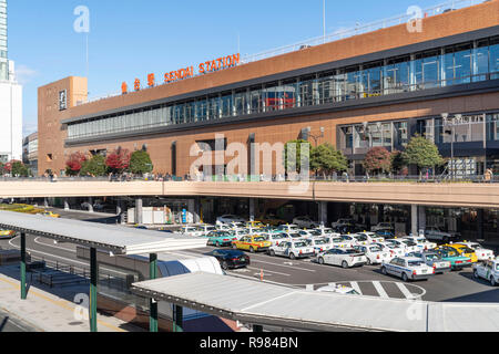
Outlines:
MULTIPOLYGON (((218 58, 215 60, 211 60, 211 61, 206 61, 204 63, 197 64, 196 73, 198 75, 203 75, 203 74, 212 73, 215 71, 234 67, 234 66, 238 65, 240 62, 241 62, 240 53, 222 56, 222 58, 218 58)), ((195 75, 194 66, 187 66, 187 67, 182 67, 182 69, 165 73, 163 80, 164 80, 164 84, 169 84, 169 83, 185 80, 189 77, 194 77, 194 75, 195 75)), ((149 74, 147 75, 147 87, 154 87, 154 86, 156 86, 155 74, 149 74)), ((141 85, 140 79, 135 79, 135 81, 133 83, 133 90, 141 91, 141 87, 142 87, 142 85, 141 85)), ((126 82, 122 83, 121 93, 122 94, 129 93, 129 86, 128 86, 126 82)))

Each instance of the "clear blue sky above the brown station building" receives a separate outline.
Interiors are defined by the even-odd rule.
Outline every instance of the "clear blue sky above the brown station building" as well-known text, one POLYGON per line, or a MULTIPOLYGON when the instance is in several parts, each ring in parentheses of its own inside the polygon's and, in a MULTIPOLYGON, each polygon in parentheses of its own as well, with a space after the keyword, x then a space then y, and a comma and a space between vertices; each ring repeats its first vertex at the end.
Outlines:
MULTIPOLYGON (((326 0, 327 32, 403 14, 438 0, 326 0)), ((90 9, 90 96, 120 91, 223 54, 254 54, 323 34, 323 0, 10 0, 9 58, 23 84, 24 132, 37 129, 37 88, 85 75, 85 34, 73 31, 78 6, 90 9)))

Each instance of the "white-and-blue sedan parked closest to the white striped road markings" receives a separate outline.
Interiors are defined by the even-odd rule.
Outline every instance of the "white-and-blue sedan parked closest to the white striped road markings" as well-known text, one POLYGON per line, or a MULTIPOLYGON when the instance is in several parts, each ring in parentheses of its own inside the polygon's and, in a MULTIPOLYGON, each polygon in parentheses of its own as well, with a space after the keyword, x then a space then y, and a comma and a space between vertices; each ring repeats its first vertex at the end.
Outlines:
POLYGON ((409 280, 428 280, 435 275, 435 270, 419 258, 397 257, 388 263, 381 264, 381 273, 398 277, 407 282, 409 280))

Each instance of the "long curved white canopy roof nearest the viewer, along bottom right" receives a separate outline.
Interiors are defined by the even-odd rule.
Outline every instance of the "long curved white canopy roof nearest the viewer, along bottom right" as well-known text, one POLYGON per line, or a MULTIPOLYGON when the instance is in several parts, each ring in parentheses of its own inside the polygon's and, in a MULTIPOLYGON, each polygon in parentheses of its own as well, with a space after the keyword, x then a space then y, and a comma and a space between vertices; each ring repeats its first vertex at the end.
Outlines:
POLYGON ((132 291, 234 321, 309 331, 499 330, 499 304, 343 295, 202 272, 134 283, 132 291))

